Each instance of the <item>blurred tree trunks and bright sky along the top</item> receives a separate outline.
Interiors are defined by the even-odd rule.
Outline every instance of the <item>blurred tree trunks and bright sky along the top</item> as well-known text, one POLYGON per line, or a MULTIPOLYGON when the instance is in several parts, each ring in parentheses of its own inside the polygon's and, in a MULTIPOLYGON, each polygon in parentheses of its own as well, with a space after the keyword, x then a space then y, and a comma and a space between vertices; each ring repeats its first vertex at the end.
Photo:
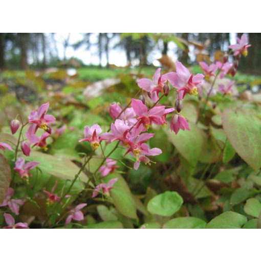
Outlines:
MULTIPOLYGON (((187 65, 226 51, 242 33, 0 33, 0 69, 187 65)), ((261 34, 248 33, 252 47, 239 70, 260 74, 261 34)))

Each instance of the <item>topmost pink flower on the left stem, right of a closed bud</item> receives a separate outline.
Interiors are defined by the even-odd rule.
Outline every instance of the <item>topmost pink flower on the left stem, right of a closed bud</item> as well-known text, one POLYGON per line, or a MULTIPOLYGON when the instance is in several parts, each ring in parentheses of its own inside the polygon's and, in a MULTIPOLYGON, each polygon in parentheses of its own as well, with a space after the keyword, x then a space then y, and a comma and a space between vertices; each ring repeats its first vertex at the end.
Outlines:
POLYGON ((42 128, 46 132, 50 133, 52 132, 51 127, 49 124, 53 123, 55 121, 55 118, 52 115, 46 114, 49 109, 49 102, 42 104, 37 112, 32 111, 31 114, 28 117, 29 123, 35 124, 35 132, 37 128, 42 128))

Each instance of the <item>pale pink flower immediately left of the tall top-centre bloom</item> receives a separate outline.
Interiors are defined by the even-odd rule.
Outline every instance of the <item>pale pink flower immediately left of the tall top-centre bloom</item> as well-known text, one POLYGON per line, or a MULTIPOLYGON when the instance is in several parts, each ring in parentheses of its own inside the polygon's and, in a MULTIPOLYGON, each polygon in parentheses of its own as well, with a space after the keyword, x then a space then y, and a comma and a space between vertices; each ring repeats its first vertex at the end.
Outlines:
POLYGON ((153 102, 159 99, 159 93, 164 93, 164 84, 167 81, 166 74, 161 75, 160 71, 160 68, 156 70, 152 81, 147 78, 142 78, 137 81, 141 89, 150 92, 150 97, 153 102))

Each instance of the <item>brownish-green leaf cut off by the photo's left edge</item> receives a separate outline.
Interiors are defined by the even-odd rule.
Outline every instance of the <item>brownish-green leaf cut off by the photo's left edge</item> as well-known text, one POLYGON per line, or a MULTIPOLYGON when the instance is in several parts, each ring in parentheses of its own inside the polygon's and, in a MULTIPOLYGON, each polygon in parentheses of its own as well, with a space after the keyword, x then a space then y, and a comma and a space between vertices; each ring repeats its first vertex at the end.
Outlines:
POLYGON ((0 154, 0 204, 6 198, 11 182, 11 169, 6 158, 0 154))

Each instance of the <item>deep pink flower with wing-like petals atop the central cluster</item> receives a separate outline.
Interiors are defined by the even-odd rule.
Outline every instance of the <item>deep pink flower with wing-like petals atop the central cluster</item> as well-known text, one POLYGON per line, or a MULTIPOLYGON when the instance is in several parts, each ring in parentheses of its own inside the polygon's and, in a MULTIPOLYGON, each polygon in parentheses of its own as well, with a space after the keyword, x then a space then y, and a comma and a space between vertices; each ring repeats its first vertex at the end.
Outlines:
POLYGON ((162 117, 165 113, 165 106, 158 105, 148 110, 141 100, 132 99, 132 107, 139 116, 137 127, 143 124, 143 126, 148 129, 152 123, 157 125, 164 124, 162 117))

